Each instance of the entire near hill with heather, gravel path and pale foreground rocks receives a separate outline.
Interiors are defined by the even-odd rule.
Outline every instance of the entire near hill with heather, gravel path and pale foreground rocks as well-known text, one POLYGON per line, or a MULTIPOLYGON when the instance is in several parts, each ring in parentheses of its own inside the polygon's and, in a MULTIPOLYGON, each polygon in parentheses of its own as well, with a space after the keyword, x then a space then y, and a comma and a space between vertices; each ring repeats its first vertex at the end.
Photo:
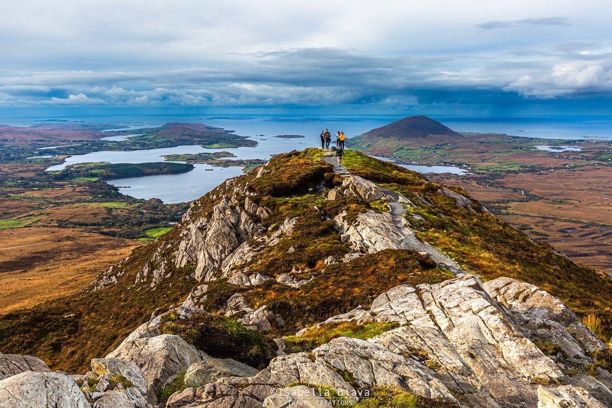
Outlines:
POLYGON ((612 406, 608 276, 461 188, 326 154, 226 180, 80 294, 3 316, 0 407, 612 406))

